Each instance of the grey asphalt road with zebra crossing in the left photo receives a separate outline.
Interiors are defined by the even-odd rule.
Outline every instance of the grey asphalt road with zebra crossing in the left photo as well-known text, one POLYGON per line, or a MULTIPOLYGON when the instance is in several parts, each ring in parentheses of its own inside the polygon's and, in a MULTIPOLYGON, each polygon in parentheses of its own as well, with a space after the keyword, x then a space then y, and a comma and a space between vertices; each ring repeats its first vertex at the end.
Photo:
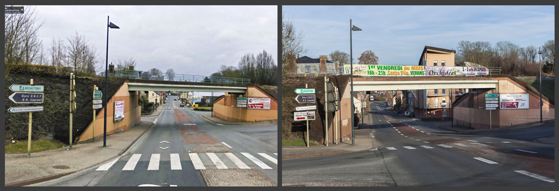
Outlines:
POLYGON ((178 107, 173 98, 159 116, 143 117, 155 125, 125 155, 37 185, 206 186, 201 170, 239 168, 258 169, 277 183, 277 125, 216 124, 201 117, 209 112, 178 107))

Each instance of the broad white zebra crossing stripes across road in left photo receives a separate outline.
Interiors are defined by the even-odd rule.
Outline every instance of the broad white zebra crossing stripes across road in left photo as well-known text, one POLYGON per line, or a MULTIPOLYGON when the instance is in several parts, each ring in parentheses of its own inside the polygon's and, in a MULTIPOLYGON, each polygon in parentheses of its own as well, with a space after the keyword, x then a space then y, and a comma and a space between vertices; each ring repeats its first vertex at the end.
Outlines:
MULTIPOLYGON (((170 170, 183 170, 184 163, 192 163, 192 166, 196 170, 200 169, 273 169, 271 166, 277 165, 277 153, 266 154, 264 152, 258 152, 257 154, 250 154, 248 152, 203 152, 203 153, 188 153, 188 155, 179 154, 169 154, 170 170), (185 157, 181 160, 181 156, 185 157)), ((117 157, 105 164, 100 165, 96 171, 107 171, 111 168, 122 168, 123 171, 133 171, 133 170, 160 170, 160 163, 163 162, 161 154, 132 154, 126 164, 122 167, 117 167, 115 165, 121 157, 117 157), (138 168, 138 164, 141 159, 148 159, 148 167, 146 169, 138 168)), ((166 156, 165 156, 166 157, 166 156)), ((164 161, 167 163, 167 161, 164 161)), ((144 167, 145 168, 145 167, 144 167)))

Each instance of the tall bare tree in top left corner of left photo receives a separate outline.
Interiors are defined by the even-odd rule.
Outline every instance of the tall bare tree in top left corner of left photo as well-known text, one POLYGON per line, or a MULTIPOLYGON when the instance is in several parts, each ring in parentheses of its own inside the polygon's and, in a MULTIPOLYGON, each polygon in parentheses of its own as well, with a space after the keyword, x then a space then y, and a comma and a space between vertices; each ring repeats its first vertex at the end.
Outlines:
POLYGON ((37 21, 34 9, 22 14, 4 14, 4 61, 6 63, 34 63, 41 49, 37 31, 42 23, 37 21))

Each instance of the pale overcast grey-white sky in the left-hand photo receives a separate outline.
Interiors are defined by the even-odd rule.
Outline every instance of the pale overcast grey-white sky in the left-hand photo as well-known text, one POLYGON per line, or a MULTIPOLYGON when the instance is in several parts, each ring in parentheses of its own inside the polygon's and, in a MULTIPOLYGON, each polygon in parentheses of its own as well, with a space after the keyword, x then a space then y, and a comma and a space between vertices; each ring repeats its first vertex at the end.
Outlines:
POLYGON ((137 70, 172 68, 176 74, 211 75, 236 66, 245 54, 266 50, 277 61, 276 6, 25 6, 35 8, 45 51, 53 39, 84 35, 105 68, 134 59, 137 70))

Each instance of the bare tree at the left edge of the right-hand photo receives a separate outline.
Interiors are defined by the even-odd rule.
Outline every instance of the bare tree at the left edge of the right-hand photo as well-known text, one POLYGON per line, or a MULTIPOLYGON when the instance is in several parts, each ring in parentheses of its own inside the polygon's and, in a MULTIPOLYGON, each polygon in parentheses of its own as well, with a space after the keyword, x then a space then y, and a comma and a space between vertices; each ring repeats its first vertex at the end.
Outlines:
POLYGON ((295 55, 304 54, 307 50, 303 47, 305 35, 297 31, 293 20, 286 20, 285 13, 282 14, 282 73, 290 70, 287 65, 289 60, 295 59, 295 55))

